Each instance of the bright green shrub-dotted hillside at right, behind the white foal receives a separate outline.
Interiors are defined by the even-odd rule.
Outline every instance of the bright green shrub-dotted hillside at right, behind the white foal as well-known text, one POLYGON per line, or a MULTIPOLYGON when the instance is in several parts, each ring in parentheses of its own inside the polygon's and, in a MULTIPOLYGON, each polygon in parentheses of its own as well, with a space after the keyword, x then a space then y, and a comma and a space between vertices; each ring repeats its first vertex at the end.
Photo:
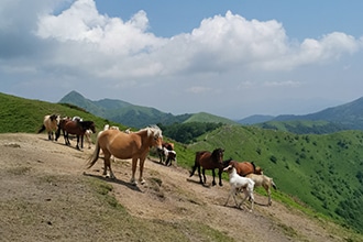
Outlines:
POLYGON ((279 190, 363 232, 363 132, 298 135, 224 125, 188 146, 216 147, 226 148, 226 160, 255 162, 279 190))

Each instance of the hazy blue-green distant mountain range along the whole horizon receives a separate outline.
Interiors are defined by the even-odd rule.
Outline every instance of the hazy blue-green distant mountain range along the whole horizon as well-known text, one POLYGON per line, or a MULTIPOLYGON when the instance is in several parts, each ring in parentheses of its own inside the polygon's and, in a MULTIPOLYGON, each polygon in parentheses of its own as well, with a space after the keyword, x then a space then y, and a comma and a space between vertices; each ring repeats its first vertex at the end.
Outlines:
POLYGON ((251 116, 238 121, 206 112, 174 116, 155 108, 135 106, 114 99, 92 101, 77 91, 70 91, 59 102, 75 105, 92 114, 133 128, 156 123, 168 125, 185 122, 215 122, 253 124, 265 129, 285 130, 294 133, 332 133, 341 130, 363 130, 363 98, 305 116, 251 116))

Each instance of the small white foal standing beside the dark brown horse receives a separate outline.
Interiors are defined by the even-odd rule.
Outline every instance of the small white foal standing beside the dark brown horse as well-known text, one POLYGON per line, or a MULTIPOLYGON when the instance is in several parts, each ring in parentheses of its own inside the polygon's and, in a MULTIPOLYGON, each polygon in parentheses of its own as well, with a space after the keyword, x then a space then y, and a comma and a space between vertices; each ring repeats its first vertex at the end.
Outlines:
POLYGON ((239 174, 237 174, 237 170, 233 166, 229 165, 227 166, 224 169, 224 172, 229 173, 229 177, 230 177, 230 185, 231 185, 231 191, 228 196, 228 199, 224 204, 224 206, 227 206, 229 199, 231 196, 233 196, 233 199, 235 201, 235 205, 238 208, 241 208, 242 204, 250 198, 251 199, 251 210, 253 211, 253 204, 254 204, 254 197, 253 197, 253 188, 254 188, 254 182, 251 178, 248 177, 243 177, 240 176, 239 174), (244 199, 238 204, 235 196, 239 191, 243 190, 244 193, 244 199))

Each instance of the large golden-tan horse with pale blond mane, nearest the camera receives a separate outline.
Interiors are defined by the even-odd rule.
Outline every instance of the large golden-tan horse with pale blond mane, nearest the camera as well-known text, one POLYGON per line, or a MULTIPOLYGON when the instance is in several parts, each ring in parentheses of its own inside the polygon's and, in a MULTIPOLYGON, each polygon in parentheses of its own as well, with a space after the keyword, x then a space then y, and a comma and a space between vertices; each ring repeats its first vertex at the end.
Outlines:
POLYGON ((90 168, 99 158, 100 150, 105 154, 105 169, 103 175, 116 178, 111 169, 110 156, 117 158, 128 160, 132 158, 132 177, 131 183, 135 182, 135 172, 138 160, 140 160, 140 178, 139 182, 144 184, 143 169, 145 158, 148 154, 150 147, 155 146, 162 148, 163 135, 158 127, 148 127, 138 132, 124 133, 119 130, 105 130, 99 132, 96 141, 94 154, 88 160, 88 168, 90 168), (108 173, 109 169, 109 173, 108 173))

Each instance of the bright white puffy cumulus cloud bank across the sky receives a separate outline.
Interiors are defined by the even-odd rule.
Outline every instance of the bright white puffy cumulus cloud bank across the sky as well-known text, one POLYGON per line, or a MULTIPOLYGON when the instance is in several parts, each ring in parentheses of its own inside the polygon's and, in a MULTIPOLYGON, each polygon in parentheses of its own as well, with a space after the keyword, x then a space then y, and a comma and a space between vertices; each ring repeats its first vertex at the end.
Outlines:
POLYGON ((63 47, 64 42, 76 46, 70 47, 76 50, 74 62, 58 56, 64 65, 91 65, 84 68, 111 78, 229 73, 237 68, 280 72, 359 50, 358 41, 344 33, 293 43, 277 21, 248 21, 231 11, 205 19, 191 33, 170 38, 156 37, 148 28, 143 10, 124 22, 101 15, 92 0, 78 0, 58 15, 42 15, 37 35, 57 40, 63 47), (81 62, 85 55, 94 57, 81 62))

